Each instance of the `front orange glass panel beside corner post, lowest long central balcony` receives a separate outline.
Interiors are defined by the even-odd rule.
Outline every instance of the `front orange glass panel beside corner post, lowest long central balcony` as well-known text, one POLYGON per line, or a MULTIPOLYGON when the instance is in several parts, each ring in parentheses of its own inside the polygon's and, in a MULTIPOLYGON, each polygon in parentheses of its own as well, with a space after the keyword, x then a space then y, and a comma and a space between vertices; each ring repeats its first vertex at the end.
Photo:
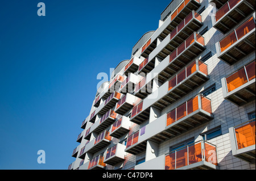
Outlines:
POLYGON ((188 163, 189 165, 202 161, 201 142, 188 146, 188 163))

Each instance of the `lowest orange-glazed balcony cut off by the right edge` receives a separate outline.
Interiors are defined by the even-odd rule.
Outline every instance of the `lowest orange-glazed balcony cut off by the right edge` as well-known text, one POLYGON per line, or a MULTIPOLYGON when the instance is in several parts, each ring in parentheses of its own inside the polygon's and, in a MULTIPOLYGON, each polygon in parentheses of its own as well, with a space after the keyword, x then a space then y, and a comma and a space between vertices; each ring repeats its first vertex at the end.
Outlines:
POLYGON ((233 156, 255 164, 255 118, 229 128, 229 135, 233 156))

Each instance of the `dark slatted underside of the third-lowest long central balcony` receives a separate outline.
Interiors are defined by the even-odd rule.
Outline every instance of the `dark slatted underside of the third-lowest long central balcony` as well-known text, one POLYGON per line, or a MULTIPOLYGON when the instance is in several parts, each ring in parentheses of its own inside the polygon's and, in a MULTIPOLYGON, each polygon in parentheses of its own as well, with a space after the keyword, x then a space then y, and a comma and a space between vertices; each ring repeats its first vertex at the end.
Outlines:
POLYGON ((166 108, 170 104, 174 103, 176 100, 179 100, 183 96, 187 95, 189 92, 193 91, 196 87, 208 81, 208 79, 209 78, 207 75, 201 73, 200 71, 196 71, 191 76, 184 79, 184 81, 180 82, 179 85, 171 89, 167 95, 155 102, 153 106, 159 110, 162 110, 163 108, 166 108))

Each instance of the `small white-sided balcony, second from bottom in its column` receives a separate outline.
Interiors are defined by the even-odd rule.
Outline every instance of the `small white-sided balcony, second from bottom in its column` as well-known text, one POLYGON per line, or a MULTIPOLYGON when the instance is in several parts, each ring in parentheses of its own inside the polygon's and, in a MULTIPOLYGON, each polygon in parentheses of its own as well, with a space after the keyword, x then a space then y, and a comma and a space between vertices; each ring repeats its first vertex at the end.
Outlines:
POLYGON ((119 138, 130 131, 131 122, 128 117, 122 116, 111 127, 110 136, 119 138))

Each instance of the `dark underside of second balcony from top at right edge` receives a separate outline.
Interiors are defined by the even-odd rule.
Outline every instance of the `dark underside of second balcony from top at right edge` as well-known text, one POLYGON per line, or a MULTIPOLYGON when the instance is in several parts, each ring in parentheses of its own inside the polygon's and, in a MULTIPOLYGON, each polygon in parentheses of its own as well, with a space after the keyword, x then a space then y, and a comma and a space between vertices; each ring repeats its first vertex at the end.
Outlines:
POLYGON ((229 65, 233 65, 253 51, 255 51, 255 28, 245 37, 242 37, 242 39, 224 50, 218 58, 229 65))

